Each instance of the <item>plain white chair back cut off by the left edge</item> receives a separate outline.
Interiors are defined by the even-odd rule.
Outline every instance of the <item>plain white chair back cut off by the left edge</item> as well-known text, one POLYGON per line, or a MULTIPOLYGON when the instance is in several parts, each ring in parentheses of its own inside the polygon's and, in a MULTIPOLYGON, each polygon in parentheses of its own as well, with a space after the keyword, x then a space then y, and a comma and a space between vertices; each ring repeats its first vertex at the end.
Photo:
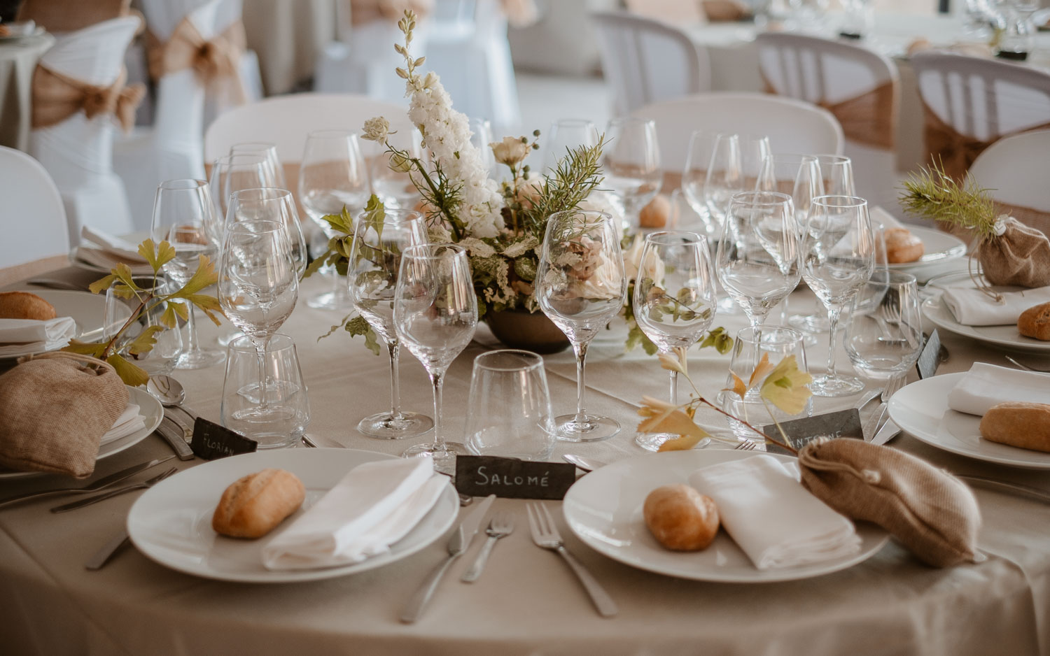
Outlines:
POLYGON ((62 195, 39 162, 20 150, 0 146, 0 195, 6 217, 0 269, 69 251, 62 195))

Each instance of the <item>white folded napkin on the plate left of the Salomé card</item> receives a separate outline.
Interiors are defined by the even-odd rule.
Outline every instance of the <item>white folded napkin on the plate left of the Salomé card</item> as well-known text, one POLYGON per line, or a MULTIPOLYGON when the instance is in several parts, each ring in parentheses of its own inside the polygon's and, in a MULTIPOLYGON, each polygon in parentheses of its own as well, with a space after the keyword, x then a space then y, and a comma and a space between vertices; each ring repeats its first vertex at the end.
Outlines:
POLYGON ((429 458, 359 465, 262 548, 262 565, 315 569, 385 553, 430 511, 447 485, 429 458))

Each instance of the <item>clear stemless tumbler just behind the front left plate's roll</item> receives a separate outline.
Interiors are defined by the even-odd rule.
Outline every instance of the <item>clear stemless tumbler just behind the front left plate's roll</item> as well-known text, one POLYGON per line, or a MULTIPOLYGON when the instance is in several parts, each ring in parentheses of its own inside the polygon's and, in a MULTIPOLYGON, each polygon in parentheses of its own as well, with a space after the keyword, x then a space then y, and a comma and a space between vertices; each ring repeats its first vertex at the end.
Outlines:
POLYGON ((278 333, 270 338, 262 367, 260 395, 255 344, 248 337, 230 342, 223 381, 223 425, 255 440, 260 449, 291 446, 310 424, 310 399, 291 337, 278 333))

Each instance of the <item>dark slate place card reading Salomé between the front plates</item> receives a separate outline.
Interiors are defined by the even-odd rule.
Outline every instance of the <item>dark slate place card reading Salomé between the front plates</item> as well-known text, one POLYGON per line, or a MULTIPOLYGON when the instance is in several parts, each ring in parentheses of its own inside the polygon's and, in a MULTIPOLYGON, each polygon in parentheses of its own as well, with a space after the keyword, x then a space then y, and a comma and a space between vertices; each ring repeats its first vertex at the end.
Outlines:
POLYGON ((575 465, 496 458, 456 457, 456 491, 470 496, 564 499, 576 482, 575 465))

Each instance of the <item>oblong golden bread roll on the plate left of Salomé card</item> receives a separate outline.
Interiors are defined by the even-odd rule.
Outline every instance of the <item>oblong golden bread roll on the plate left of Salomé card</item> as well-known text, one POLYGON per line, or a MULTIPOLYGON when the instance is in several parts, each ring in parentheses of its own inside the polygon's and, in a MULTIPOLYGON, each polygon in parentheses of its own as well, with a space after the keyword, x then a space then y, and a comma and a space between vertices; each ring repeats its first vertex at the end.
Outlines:
POLYGON ((261 537, 302 505, 302 482, 284 469, 264 469, 237 479, 218 500, 211 528, 230 537, 261 537))

